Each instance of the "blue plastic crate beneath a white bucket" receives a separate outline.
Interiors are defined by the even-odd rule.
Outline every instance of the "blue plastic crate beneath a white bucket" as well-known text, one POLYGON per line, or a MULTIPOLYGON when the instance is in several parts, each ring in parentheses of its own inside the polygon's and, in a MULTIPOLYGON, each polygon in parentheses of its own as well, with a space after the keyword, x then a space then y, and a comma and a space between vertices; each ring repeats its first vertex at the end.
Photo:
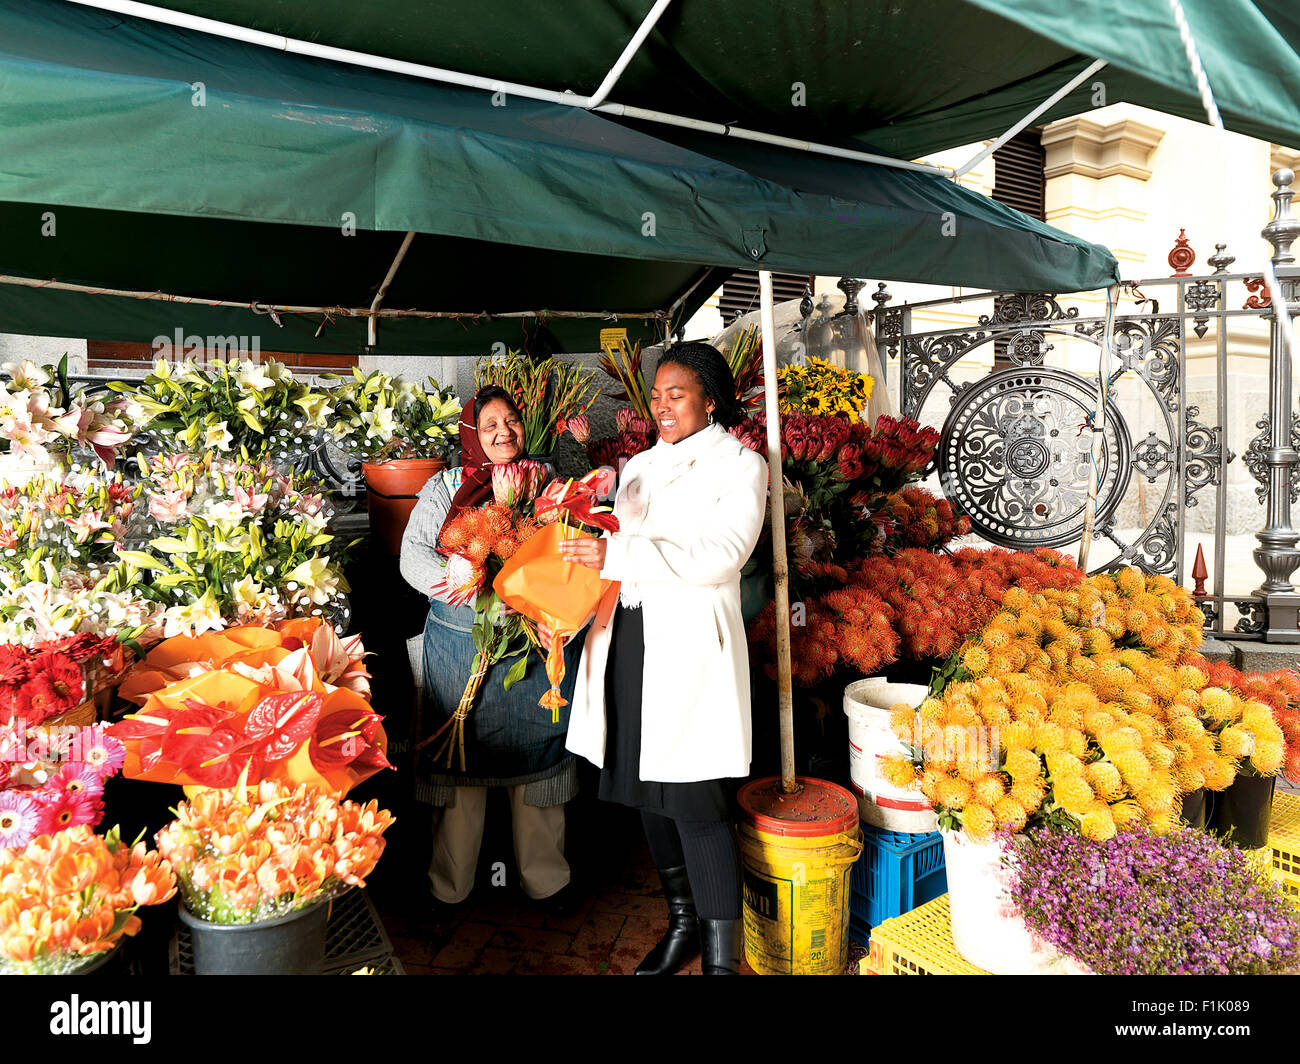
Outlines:
POLYGON ((909 835, 863 825, 862 856, 849 873, 849 935, 867 942, 884 920, 911 912, 948 890, 937 831, 909 835))

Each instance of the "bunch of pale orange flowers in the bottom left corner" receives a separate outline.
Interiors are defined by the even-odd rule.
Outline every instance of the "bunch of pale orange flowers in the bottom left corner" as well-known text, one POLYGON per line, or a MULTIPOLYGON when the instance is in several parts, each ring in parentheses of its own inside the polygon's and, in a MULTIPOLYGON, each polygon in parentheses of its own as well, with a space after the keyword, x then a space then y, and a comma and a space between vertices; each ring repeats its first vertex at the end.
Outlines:
POLYGON ((0 973, 73 972, 136 934, 140 905, 174 894, 172 866, 116 827, 100 838, 78 825, 0 848, 0 973))

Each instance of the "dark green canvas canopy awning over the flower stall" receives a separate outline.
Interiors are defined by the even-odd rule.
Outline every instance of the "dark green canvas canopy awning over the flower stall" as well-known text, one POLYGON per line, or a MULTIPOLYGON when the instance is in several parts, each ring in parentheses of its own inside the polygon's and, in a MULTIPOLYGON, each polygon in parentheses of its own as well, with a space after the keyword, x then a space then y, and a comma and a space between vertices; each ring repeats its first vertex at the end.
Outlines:
MULTIPOLYGON (((1197 39, 1199 23, 1218 27, 1243 7, 1184 5, 1197 39)), ((650 0, 168 7, 590 92, 650 0)), ((1052 7, 681 0, 612 98, 913 156, 1001 131, 1076 73, 1091 57, 1080 49, 1105 57, 1105 44, 1108 101, 1195 117, 1164 3, 1127 3, 1122 20, 1109 0, 1074 4, 1069 21, 1052 7)), ((1225 64, 1235 72, 1216 85, 1225 118, 1300 143, 1291 38, 1264 4, 1244 8, 1252 22, 1202 43, 1212 82, 1225 64)), ((1054 111, 1086 109, 1067 98, 1054 111)), ((419 235, 385 308, 460 317, 384 319, 382 352, 514 343, 520 320, 488 316, 526 310, 619 315, 647 332, 684 320, 744 267, 1054 291, 1118 277, 1104 248, 931 174, 494 98, 60 0, 0 0, 0 274, 30 281, 0 284, 5 332, 148 341, 179 328, 256 336, 264 350, 358 351, 363 320, 303 310, 277 311, 277 324, 269 311, 368 307, 408 230, 419 235)), ((571 349, 592 349, 602 324, 549 319, 571 349)))

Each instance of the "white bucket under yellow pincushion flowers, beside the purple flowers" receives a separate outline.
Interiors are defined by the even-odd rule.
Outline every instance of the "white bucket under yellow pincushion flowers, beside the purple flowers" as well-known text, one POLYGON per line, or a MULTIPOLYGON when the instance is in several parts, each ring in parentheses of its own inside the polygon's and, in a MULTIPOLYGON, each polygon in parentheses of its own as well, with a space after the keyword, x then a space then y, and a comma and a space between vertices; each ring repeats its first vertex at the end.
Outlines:
MULTIPOLYGON (((1024 924, 1011 899, 1011 869, 997 843, 944 831, 948 908, 957 952, 994 976, 1082 976, 1088 969, 1057 952, 1024 924)), ((1014 860, 1014 857, 1013 857, 1014 860)))

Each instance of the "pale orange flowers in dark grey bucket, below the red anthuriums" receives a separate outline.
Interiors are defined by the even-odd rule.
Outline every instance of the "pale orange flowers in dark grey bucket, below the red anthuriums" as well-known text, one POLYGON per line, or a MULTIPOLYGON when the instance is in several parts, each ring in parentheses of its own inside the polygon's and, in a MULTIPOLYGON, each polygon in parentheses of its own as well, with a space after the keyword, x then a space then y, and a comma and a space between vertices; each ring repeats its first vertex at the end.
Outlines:
POLYGON ((185 907, 214 924, 255 924, 364 886, 393 816, 372 800, 313 787, 239 780, 176 808, 157 834, 185 907))

